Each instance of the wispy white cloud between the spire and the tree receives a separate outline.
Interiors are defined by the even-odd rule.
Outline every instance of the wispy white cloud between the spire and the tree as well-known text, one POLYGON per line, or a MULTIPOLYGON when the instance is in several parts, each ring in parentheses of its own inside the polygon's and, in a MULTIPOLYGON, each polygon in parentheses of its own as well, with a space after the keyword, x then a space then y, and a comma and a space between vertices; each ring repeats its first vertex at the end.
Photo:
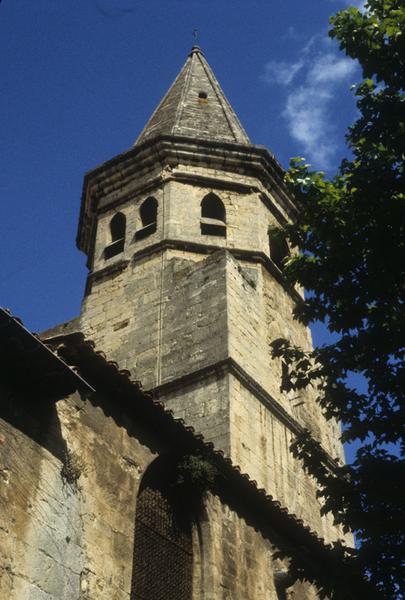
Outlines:
POLYGON ((354 61, 339 54, 333 42, 320 35, 305 44, 297 60, 265 65, 263 80, 287 90, 282 117, 291 137, 317 168, 333 165, 338 140, 333 103, 339 88, 349 87, 356 68, 354 61))

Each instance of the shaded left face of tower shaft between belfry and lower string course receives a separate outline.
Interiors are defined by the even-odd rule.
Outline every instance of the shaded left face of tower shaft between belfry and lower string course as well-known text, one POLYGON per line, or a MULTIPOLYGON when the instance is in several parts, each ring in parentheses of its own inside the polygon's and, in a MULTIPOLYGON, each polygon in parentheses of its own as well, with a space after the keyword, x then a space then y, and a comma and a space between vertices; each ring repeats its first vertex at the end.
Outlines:
POLYGON ((185 256, 136 261, 84 300, 85 335, 146 389, 227 356, 223 256, 185 256))

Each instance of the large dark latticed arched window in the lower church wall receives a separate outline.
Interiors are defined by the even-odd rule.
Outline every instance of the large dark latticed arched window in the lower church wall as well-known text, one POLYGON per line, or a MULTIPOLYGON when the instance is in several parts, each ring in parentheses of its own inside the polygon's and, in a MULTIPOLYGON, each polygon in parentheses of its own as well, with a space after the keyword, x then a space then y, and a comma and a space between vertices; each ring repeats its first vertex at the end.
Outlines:
POLYGON ((136 503, 131 600, 191 600, 191 523, 176 511, 170 467, 157 459, 136 503))

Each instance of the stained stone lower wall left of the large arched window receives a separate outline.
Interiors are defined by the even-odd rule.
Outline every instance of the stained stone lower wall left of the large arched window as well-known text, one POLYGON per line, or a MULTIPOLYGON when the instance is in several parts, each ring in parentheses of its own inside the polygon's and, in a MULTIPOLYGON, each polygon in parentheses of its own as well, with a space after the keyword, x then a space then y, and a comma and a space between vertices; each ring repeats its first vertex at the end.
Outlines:
POLYGON ((13 398, 0 420, 0 597, 129 599, 136 495, 153 450, 78 395, 41 410, 36 399, 35 412, 30 400, 13 398), (67 450, 77 486, 61 476, 67 450))

